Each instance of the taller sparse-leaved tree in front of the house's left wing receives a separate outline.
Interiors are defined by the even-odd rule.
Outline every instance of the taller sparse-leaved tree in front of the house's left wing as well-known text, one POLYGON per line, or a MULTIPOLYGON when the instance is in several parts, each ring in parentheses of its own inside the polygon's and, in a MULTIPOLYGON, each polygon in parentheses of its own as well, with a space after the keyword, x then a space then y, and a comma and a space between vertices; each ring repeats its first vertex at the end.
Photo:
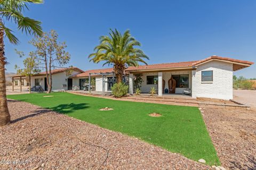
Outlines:
MULTIPOLYGON (((38 37, 29 42, 36 47, 34 52, 30 52, 31 56, 36 58, 40 68, 45 69, 47 93, 52 91, 52 69, 64 68, 70 60, 70 54, 65 51, 66 43, 59 43, 57 39, 57 32, 51 30, 49 33, 44 32, 42 38, 38 37)), ((70 70, 72 72, 72 69, 67 69, 67 75, 70 70)))

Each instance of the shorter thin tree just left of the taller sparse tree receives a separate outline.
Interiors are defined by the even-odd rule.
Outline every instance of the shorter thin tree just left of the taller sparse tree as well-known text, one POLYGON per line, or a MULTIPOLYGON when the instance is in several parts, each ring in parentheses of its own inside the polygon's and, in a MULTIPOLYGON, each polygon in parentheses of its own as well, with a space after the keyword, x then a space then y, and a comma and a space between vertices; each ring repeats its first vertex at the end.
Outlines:
MULTIPOLYGON (((23 52, 19 52, 18 50, 16 50, 16 53, 20 57, 25 56, 25 54, 23 52)), ((39 70, 38 63, 36 61, 37 61, 36 57, 31 56, 31 53, 29 53, 29 56, 27 58, 25 58, 25 60, 23 60, 23 65, 24 65, 23 69, 20 69, 20 67, 15 65, 17 74, 29 77, 29 93, 31 93, 31 78, 30 77, 41 71, 41 70, 39 70)))

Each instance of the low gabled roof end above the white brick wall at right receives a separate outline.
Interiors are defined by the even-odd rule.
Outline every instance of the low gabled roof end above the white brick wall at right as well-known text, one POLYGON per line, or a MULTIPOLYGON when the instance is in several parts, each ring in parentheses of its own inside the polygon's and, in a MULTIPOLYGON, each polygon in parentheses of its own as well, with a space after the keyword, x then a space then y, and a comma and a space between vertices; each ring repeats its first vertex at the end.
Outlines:
POLYGON ((193 63, 193 66, 197 66, 197 65, 201 65, 210 61, 222 61, 222 62, 228 62, 228 63, 233 63, 233 71, 237 71, 240 69, 244 69, 245 67, 249 67, 252 64, 254 64, 253 62, 249 62, 249 61, 243 61, 243 60, 236 60, 233 58, 228 58, 228 57, 220 57, 220 56, 211 56, 211 57, 207 57, 204 60, 200 60, 197 61, 195 63, 193 63))

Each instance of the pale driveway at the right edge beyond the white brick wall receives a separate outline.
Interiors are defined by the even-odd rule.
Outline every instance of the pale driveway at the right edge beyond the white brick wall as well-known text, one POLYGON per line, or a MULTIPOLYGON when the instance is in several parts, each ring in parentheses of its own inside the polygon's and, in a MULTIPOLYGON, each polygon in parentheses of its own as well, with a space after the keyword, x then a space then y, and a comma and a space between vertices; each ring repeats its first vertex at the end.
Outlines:
POLYGON ((233 90, 235 101, 256 108, 256 90, 233 90))

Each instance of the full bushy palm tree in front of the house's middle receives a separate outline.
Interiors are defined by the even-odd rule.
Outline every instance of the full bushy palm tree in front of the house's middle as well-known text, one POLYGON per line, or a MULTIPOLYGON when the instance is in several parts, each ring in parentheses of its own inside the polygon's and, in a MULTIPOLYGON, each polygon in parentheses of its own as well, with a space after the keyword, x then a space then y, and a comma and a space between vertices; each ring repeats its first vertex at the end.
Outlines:
POLYGON ((109 36, 100 37, 100 45, 94 48, 95 53, 90 54, 89 58, 94 63, 105 61, 103 66, 113 64, 117 83, 120 83, 127 66, 138 66, 139 62, 147 64, 143 59, 149 60, 148 56, 134 47, 140 45, 139 41, 131 37, 129 30, 121 35, 116 29, 110 29, 109 36))

